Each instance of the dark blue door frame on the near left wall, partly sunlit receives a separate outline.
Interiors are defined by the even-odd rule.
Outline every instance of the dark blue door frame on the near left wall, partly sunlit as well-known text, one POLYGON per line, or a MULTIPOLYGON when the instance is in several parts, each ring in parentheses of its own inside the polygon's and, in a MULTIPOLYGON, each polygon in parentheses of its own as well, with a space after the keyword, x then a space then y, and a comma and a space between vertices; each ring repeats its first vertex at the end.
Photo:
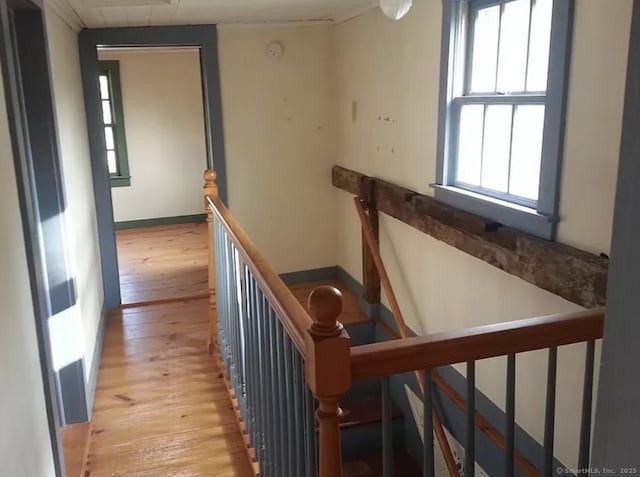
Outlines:
POLYGON ((41 0, 0 0, 0 59, 51 449, 56 475, 64 476, 61 422, 86 420, 87 409, 82 359, 56 372, 49 336, 49 319, 75 305, 76 289, 65 257, 66 205, 41 0))

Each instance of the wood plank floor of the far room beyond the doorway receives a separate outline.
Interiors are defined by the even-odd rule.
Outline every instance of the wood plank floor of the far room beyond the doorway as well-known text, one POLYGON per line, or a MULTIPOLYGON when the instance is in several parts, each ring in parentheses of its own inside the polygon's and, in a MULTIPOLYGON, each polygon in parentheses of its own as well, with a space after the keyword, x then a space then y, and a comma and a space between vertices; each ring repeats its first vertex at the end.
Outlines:
POLYGON ((124 305, 207 294, 207 224, 118 230, 124 305))

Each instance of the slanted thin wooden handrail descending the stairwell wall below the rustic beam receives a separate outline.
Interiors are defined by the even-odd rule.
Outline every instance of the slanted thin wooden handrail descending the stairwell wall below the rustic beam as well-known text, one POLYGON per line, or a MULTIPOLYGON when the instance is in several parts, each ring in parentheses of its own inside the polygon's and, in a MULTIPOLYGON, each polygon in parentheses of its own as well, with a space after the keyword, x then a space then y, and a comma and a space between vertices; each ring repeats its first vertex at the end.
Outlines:
MULTIPOLYGON (((404 317, 402 316, 402 311, 400 310, 400 305, 398 304, 396 294, 393 291, 393 287, 391 286, 391 280, 389 279, 389 275, 387 274, 387 270, 382 261, 382 256, 380 255, 378 243, 373 233, 373 228, 371 227, 369 217, 364 211, 364 207, 362 206, 360 197, 355 197, 354 202, 356 205, 356 211, 358 212, 358 217, 360 218, 360 223, 362 225, 362 232, 369 248, 369 252, 371 253, 371 259, 373 260, 376 269, 378 270, 378 275, 380 276, 382 287, 384 288, 384 292, 387 295, 389 303, 391 304, 391 312, 393 314, 393 319, 396 323, 396 327, 400 332, 400 337, 407 338, 409 336, 409 332, 407 331, 407 324, 405 323, 404 317)), ((417 369, 413 371, 416 376, 416 380, 418 381, 418 386, 420 387, 420 393, 424 396, 423 376, 420 372, 418 372, 417 369)), ((444 456, 449 475, 452 477, 457 477, 460 475, 460 472, 458 471, 458 466, 456 465, 456 462, 453 458, 453 452, 451 452, 451 447, 449 446, 449 441, 447 440, 447 436, 444 433, 440 417, 436 413, 434 413, 432 420, 433 430, 435 431, 438 445, 442 450, 442 455, 444 456)))

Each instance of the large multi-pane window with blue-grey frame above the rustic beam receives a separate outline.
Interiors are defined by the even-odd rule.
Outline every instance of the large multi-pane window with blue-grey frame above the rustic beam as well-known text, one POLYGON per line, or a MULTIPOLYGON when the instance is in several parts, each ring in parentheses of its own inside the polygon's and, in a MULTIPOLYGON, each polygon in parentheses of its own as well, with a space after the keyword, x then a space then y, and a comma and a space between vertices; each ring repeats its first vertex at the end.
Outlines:
POLYGON ((438 200, 554 237, 572 16, 572 0, 444 0, 438 200))

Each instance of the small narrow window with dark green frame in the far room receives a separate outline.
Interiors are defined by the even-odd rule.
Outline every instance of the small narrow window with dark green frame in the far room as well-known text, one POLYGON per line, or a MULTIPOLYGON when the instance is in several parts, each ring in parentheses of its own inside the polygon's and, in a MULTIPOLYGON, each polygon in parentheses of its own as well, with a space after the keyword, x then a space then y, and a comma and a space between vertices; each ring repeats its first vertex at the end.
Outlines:
POLYGON ((131 185, 131 177, 122 111, 120 68, 117 61, 100 61, 98 64, 102 122, 111 187, 126 187, 131 185))

